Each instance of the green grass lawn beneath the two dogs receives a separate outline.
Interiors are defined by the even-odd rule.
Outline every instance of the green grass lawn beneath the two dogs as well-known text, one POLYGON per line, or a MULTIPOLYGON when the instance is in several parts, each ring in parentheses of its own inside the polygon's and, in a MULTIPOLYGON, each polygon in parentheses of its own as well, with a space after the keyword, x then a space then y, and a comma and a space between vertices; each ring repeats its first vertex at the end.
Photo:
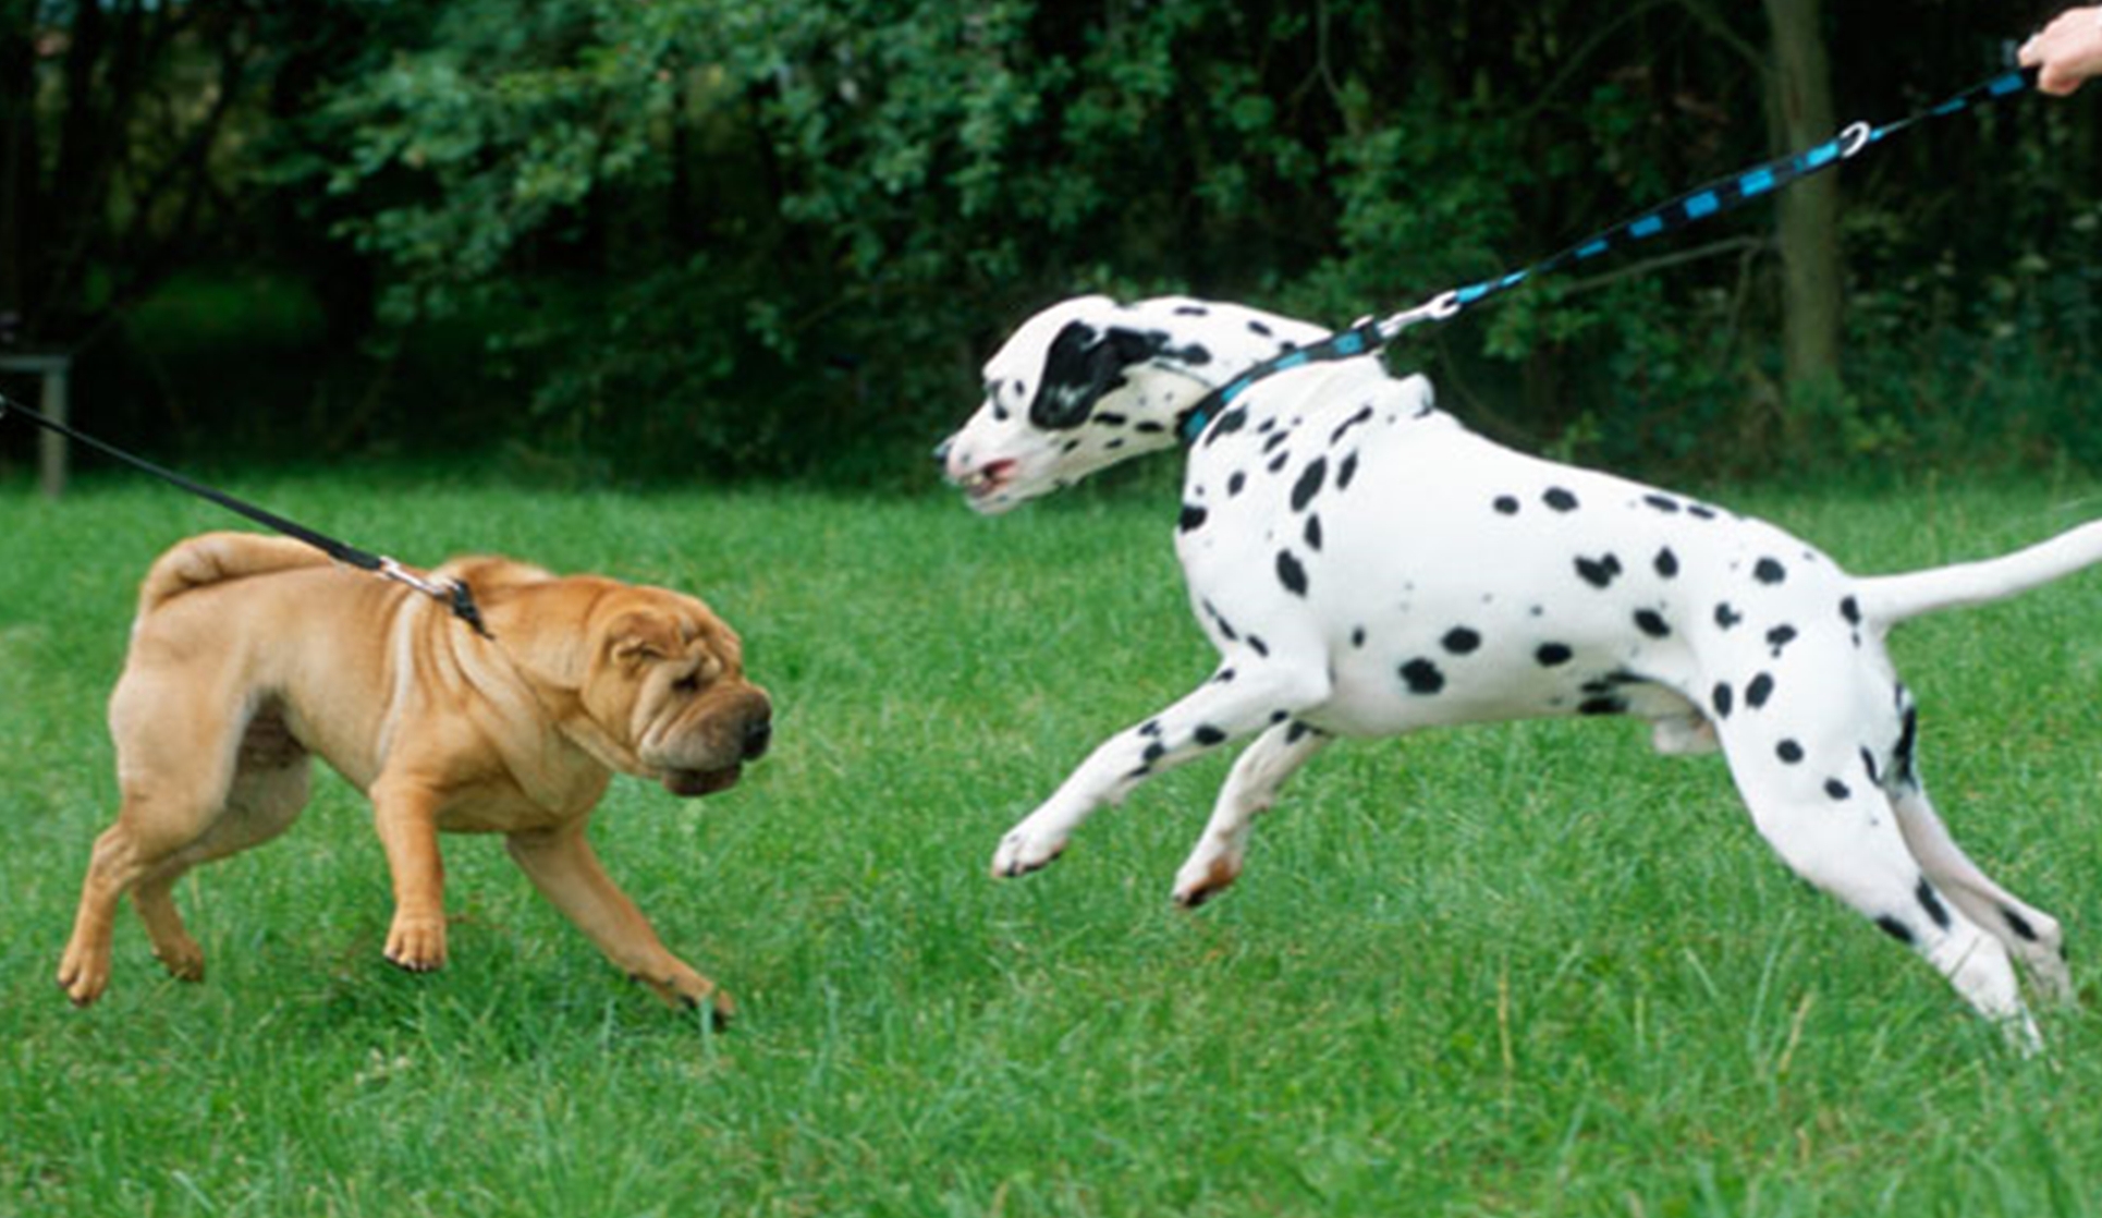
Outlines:
MULTIPOLYGON (((448 839, 454 963, 380 959, 389 896, 332 776, 282 841, 179 890, 204 984, 118 928, 53 984, 111 816, 101 722, 147 562, 221 511, 109 475, 0 486, 0 1212, 2098 1214, 2102 1024, 2022 1060, 1795 881, 1719 759, 1627 722, 1347 743, 1240 886, 1169 902, 1209 759, 1024 881, 1001 833, 1211 669, 1173 492, 986 522, 948 499, 555 494, 404 471, 246 478, 435 562, 507 551, 704 595, 776 753, 677 801, 616 780, 595 841, 736 993, 710 1033, 622 980, 504 860, 448 839)), ((2096 486, 1722 494, 1856 570, 2102 515, 2096 486)), ((1896 640, 1944 816, 2102 940, 2102 574, 1896 640)))

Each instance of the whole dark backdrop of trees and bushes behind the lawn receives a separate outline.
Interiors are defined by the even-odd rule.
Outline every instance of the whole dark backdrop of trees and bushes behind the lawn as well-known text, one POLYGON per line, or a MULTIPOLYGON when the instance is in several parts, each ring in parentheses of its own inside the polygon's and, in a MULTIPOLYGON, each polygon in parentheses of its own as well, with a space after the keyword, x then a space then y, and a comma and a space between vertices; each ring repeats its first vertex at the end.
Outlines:
MULTIPOLYGON (((2054 11, 0 0, 0 351, 71 351, 80 425, 187 461, 925 484, 1053 299, 1398 309, 2054 11)), ((2098 141, 2085 93, 1932 124, 1394 362, 1652 478, 2102 469, 2098 141)))

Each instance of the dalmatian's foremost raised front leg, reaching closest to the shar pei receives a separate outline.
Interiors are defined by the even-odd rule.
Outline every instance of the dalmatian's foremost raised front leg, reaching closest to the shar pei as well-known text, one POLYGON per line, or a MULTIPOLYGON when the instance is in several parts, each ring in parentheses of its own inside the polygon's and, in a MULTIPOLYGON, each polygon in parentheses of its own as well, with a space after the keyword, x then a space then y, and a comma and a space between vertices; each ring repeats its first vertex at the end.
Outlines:
POLYGON ((1104 804, 1120 804, 1139 783, 1282 726, 1328 696, 1320 665, 1236 665, 1135 728, 1104 740, 1078 770, 1001 839, 992 875, 1026 875, 1049 865, 1072 831, 1104 804))

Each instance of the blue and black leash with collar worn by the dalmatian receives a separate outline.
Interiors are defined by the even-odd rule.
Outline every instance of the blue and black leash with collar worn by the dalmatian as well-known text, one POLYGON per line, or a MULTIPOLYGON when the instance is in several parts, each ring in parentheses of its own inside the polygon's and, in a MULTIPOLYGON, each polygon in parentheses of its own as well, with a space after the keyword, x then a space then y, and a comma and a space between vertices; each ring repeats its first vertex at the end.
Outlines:
POLYGON ((1207 393, 1196 406, 1192 406, 1181 417, 1181 440, 1183 444, 1196 444, 1204 429, 1211 427, 1213 419, 1219 417, 1236 398, 1240 398, 1249 385, 1255 385, 1263 377, 1276 372, 1289 372, 1291 368, 1301 368, 1305 364, 1316 364, 1322 360, 1349 360, 1356 356, 1368 356, 1373 351, 1385 349, 1402 330, 1419 326, 1423 322, 1446 322, 1459 316, 1463 309, 1480 305, 1482 301, 1497 297, 1534 280, 1560 271, 1564 267, 1574 267, 1598 259, 1610 250, 1644 242, 1648 238, 1682 229, 1686 225, 1705 221, 1709 217, 1722 215, 1751 200, 1774 194, 1776 189, 1801 181, 1814 172, 1822 172, 1852 160, 1862 149, 1877 145, 1913 124, 1925 122, 1930 118, 1949 118, 1953 114, 1963 114, 1978 105, 2012 97, 2035 84, 2037 72, 2031 69, 2007 69, 1991 80, 1980 80, 1978 84, 1930 105, 1917 114, 1909 114, 1896 122, 1873 126, 1869 122, 1848 124, 1839 135, 1827 139, 1825 143, 1774 158, 1766 164, 1755 164, 1751 168, 1738 170, 1730 177, 1715 179, 1707 185, 1698 185, 1665 204, 1644 210, 1642 215, 1621 221, 1608 229, 1595 231, 1589 238, 1549 255, 1528 267, 1520 267, 1507 276, 1497 276, 1480 280, 1461 288, 1450 288, 1438 292, 1429 301, 1400 313, 1385 318, 1364 318, 1358 324, 1312 343, 1305 347, 1295 347, 1282 356, 1274 356, 1234 381, 1207 393))

